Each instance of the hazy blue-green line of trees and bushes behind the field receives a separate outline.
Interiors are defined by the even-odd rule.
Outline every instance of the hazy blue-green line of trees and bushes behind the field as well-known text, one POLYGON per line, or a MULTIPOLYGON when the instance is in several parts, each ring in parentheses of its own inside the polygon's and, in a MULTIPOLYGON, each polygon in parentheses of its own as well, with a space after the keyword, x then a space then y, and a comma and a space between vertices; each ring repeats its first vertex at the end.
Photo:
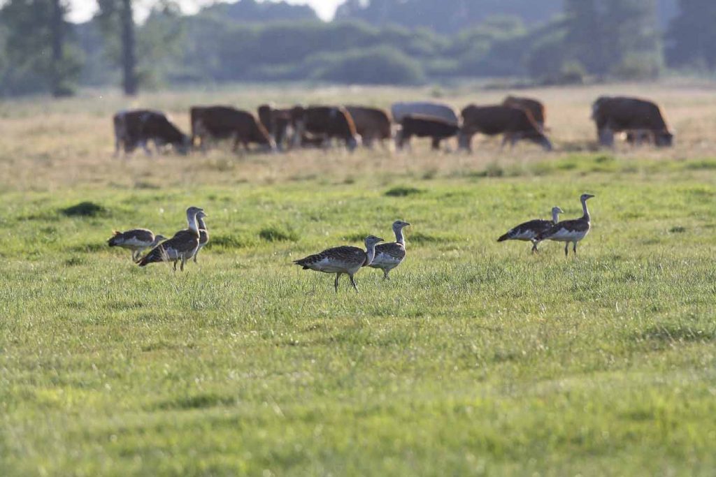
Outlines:
POLYGON ((522 16, 486 15, 505 4, 496 0, 347 0, 328 23, 309 7, 282 2, 241 0, 187 16, 174 0, 158 0, 141 24, 133 0, 94 1, 97 14, 71 24, 65 0, 6 0, 0 95, 64 96, 81 85, 107 84, 121 84, 131 95, 142 87, 207 82, 529 77, 559 83, 654 78, 664 67, 716 68, 712 0, 510 4, 521 5, 522 16), (674 15, 662 27, 666 1, 674 15), (426 23, 430 18, 435 21, 426 23))

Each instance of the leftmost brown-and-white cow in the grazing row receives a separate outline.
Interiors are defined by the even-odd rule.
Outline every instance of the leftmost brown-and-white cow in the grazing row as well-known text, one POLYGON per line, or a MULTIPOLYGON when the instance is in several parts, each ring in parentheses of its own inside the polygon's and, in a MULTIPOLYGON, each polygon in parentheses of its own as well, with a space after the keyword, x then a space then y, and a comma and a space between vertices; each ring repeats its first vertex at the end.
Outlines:
POLYGON ((162 149, 170 144, 180 154, 188 151, 190 139, 178 127, 170 122, 163 112, 152 109, 130 109, 117 112, 112 117, 115 128, 115 156, 120 147, 125 154, 134 151, 137 146, 148 154, 152 154, 147 142, 154 142, 155 147, 162 149))

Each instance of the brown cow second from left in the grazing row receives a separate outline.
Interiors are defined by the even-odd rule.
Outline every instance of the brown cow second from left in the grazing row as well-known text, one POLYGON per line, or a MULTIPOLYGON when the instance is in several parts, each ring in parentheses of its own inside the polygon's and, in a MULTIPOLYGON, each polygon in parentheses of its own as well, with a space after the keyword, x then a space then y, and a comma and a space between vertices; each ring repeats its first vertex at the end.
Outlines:
POLYGON ((233 151, 238 149, 239 143, 248 151, 248 144, 252 142, 266 149, 276 149, 274 139, 250 112, 230 106, 207 106, 192 107, 189 114, 192 144, 198 142, 202 149, 205 149, 208 138, 233 138, 233 151))

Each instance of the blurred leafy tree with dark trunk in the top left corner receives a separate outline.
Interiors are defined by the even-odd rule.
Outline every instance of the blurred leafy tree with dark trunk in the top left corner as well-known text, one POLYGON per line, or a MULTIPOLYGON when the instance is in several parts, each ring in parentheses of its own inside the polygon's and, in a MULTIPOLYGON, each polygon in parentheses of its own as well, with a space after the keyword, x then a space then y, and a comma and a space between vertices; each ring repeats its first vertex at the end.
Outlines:
POLYGON ((72 94, 81 61, 66 38, 67 5, 60 0, 9 0, 0 9, 3 94, 72 94))

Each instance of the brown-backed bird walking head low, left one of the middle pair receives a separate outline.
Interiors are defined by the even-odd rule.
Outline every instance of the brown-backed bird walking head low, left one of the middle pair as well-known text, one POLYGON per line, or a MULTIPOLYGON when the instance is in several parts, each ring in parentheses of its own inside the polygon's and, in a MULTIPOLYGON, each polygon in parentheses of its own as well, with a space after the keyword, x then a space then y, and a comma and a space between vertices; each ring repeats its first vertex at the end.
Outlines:
POLYGON ((335 273, 336 281, 334 282, 334 287, 336 292, 338 292, 338 279, 345 273, 350 278, 351 285, 353 285, 356 292, 358 292, 358 287, 356 286, 353 275, 355 275, 361 267, 370 265, 375 257, 375 245, 382 241, 383 239, 380 237, 368 235, 364 241, 366 250, 343 245, 342 247, 329 248, 323 252, 309 255, 308 257, 301 258, 301 260, 294 260, 294 263, 301 265, 303 270, 335 273))

